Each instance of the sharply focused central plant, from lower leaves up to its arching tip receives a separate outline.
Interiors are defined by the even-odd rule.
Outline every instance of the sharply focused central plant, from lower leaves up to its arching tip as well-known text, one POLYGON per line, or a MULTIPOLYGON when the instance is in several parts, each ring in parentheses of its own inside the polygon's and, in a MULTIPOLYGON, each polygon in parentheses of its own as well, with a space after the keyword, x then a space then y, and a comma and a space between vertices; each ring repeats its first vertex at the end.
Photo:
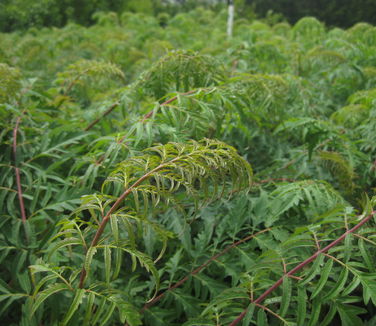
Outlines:
MULTIPOLYGON (((121 266, 119 252, 122 251, 130 255, 133 270, 138 261, 153 274, 155 286, 158 288, 159 275, 151 258, 136 249, 134 221, 138 220, 151 226, 159 239, 165 243, 170 235, 156 223, 141 218, 140 213, 142 211, 147 213, 149 207, 157 207, 160 199, 168 202, 170 200, 186 202, 186 195, 189 195, 196 200, 207 201, 210 197, 228 193, 226 189, 228 182, 232 184, 230 193, 239 188, 248 188, 251 178, 250 165, 233 147, 220 141, 204 139, 187 144, 168 143, 151 147, 145 150, 144 155, 134 156, 120 163, 104 182, 103 194, 83 197, 83 205, 76 214, 79 216, 86 211, 90 214, 91 221, 85 223, 87 227, 84 231, 80 230, 76 221, 63 221, 61 231, 55 236, 60 241, 50 255, 67 246, 85 248, 79 289, 76 290, 76 295, 80 295, 80 298, 83 295, 80 289, 83 289, 85 279, 100 270, 105 273, 107 284, 110 284, 113 275, 119 273, 121 266), (130 197, 132 200, 129 200, 130 197), (105 232, 107 223, 111 224, 109 234, 105 232), (125 226, 125 230, 120 224, 125 226), (95 233, 90 246, 84 241, 88 233, 95 233), (124 235, 127 235, 128 239, 124 240, 124 235), (95 261, 94 256, 98 257, 99 254, 102 254, 104 268, 95 261), (116 257, 115 265, 118 267, 115 269, 112 256, 116 257)), ((81 219, 76 218, 76 220, 81 222, 81 219)), ((163 251, 164 249, 162 253, 163 251)), ((44 271, 50 272, 46 269, 44 271)), ((74 272, 72 279, 76 276, 77 273, 74 272)), ((96 279, 98 277, 96 276, 96 279)), ((61 284, 64 289, 66 289, 65 284, 61 284)), ((101 284, 96 282, 95 286, 101 284)), ((104 293, 108 290, 105 289, 104 293)), ((33 311, 39 307, 39 301, 44 299, 43 293, 46 291, 48 292, 48 289, 41 291, 34 298, 33 311)), ((95 296, 98 296, 98 293, 94 294, 93 300, 95 296)), ((75 301, 73 299, 73 302, 75 301)), ((76 310, 78 306, 79 302, 72 309, 76 310)), ((70 318, 69 312, 65 318, 70 318)))

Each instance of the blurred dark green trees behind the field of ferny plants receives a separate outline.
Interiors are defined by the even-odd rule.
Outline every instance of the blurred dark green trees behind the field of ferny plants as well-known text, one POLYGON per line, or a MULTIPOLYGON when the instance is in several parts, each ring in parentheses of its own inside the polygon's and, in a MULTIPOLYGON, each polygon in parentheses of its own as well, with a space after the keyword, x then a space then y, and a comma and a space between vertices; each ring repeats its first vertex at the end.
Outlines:
MULTIPOLYGON (((62 27, 68 22, 89 26, 98 12, 143 13, 166 17, 188 12, 197 6, 215 11, 225 9, 226 0, 2 0, 0 32, 30 27, 62 27)), ((256 17, 295 24, 314 16, 328 26, 351 27, 357 22, 376 23, 373 0, 235 0, 238 18, 256 17)))

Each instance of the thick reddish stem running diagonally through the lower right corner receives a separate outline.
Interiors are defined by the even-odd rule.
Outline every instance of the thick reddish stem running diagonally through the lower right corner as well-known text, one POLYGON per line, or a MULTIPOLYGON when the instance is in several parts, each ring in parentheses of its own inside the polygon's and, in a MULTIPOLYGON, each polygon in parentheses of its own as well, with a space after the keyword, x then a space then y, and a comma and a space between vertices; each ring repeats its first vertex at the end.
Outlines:
MULTIPOLYGON (((327 245, 325 248, 317 250, 311 257, 307 258, 305 261, 301 262, 298 266, 294 267, 291 271, 284 274, 277 282, 275 282, 269 289, 267 289, 263 294, 261 294, 256 300, 251 301, 251 303, 259 305, 270 293, 272 293, 275 289, 277 289, 283 283, 283 280, 284 280, 285 277, 291 277, 297 271, 301 270, 303 267, 305 267, 306 265, 308 265, 309 263, 314 261, 320 254, 323 254, 323 253, 326 253, 327 251, 329 251, 331 248, 333 248, 338 243, 343 241, 349 234, 355 232, 360 227, 362 227, 365 223, 367 223, 375 214, 376 214, 376 211, 373 211, 367 217, 363 218, 352 229, 347 230, 339 238, 334 240, 332 243, 327 245)), ((243 312, 229 326, 235 326, 238 323, 240 323, 242 321, 242 319, 244 318, 244 316, 247 314, 247 311, 248 311, 248 308, 243 310, 243 312)))

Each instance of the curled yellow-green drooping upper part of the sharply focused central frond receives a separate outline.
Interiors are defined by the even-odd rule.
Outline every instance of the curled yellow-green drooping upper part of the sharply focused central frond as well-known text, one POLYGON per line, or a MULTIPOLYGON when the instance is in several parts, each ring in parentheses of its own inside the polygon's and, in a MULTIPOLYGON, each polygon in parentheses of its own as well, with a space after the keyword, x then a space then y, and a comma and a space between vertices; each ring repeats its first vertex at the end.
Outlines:
POLYGON ((115 189, 120 185, 122 189, 132 190, 136 207, 140 207, 138 198, 143 198, 146 206, 151 199, 152 206, 156 206, 161 198, 168 200, 182 188, 198 199, 201 194, 205 197, 223 194, 228 181, 233 191, 251 183, 249 164, 223 142, 205 139, 187 144, 168 143, 145 152, 119 164, 103 185, 107 193, 113 195, 109 184, 115 189))

